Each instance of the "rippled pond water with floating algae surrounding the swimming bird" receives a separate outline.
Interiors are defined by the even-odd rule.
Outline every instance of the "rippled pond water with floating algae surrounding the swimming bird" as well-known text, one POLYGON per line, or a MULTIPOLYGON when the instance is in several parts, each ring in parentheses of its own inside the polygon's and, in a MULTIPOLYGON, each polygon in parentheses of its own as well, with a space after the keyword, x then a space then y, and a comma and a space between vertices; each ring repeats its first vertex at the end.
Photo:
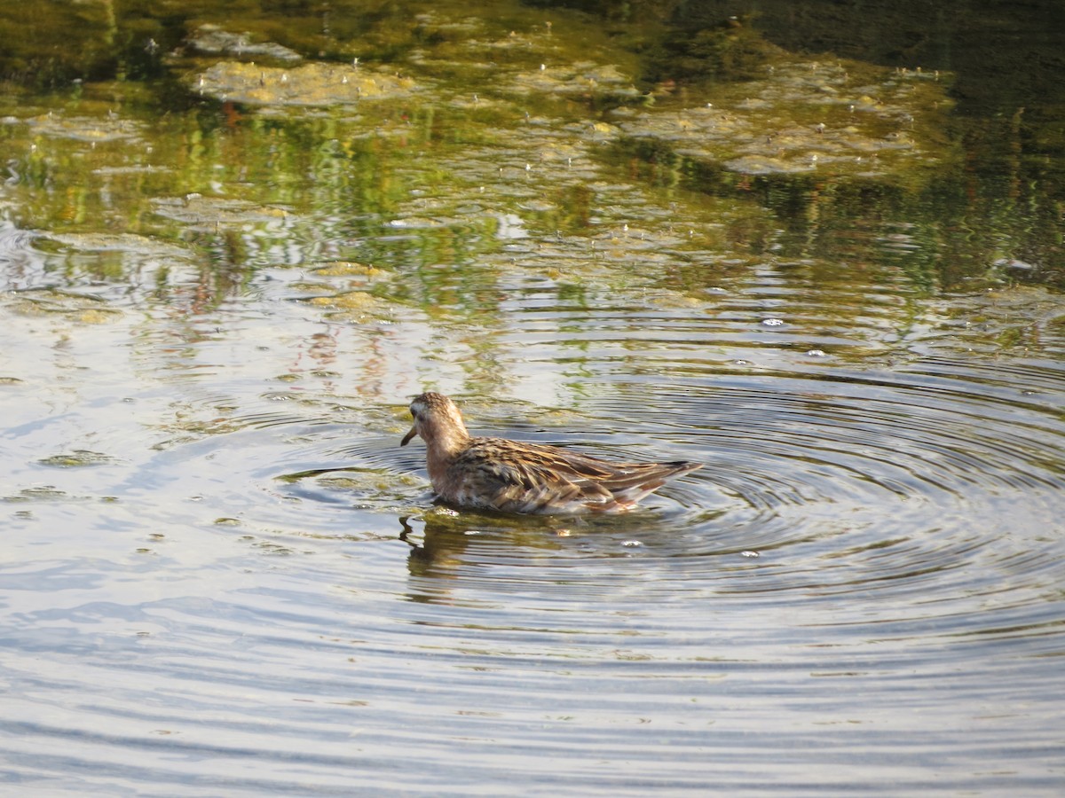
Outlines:
POLYGON ((505 11, 10 89, 4 789, 1058 794, 1060 207, 946 73, 654 93, 505 11), (429 388, 705 465, 456 513, 398 447, 429 388))

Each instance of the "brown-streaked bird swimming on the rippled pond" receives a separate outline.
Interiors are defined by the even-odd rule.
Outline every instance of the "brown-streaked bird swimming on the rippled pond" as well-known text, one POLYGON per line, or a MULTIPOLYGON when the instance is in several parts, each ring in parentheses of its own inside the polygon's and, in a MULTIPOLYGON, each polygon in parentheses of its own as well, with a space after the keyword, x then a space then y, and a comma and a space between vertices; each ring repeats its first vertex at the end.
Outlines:
POLYGON ((425 439, 432 489, 448 504, 541 515, 623 513, 700 463, 608 463, 556 446, 474 437, 443 394, 410 403, 414 418, 400 446, 425 439))

